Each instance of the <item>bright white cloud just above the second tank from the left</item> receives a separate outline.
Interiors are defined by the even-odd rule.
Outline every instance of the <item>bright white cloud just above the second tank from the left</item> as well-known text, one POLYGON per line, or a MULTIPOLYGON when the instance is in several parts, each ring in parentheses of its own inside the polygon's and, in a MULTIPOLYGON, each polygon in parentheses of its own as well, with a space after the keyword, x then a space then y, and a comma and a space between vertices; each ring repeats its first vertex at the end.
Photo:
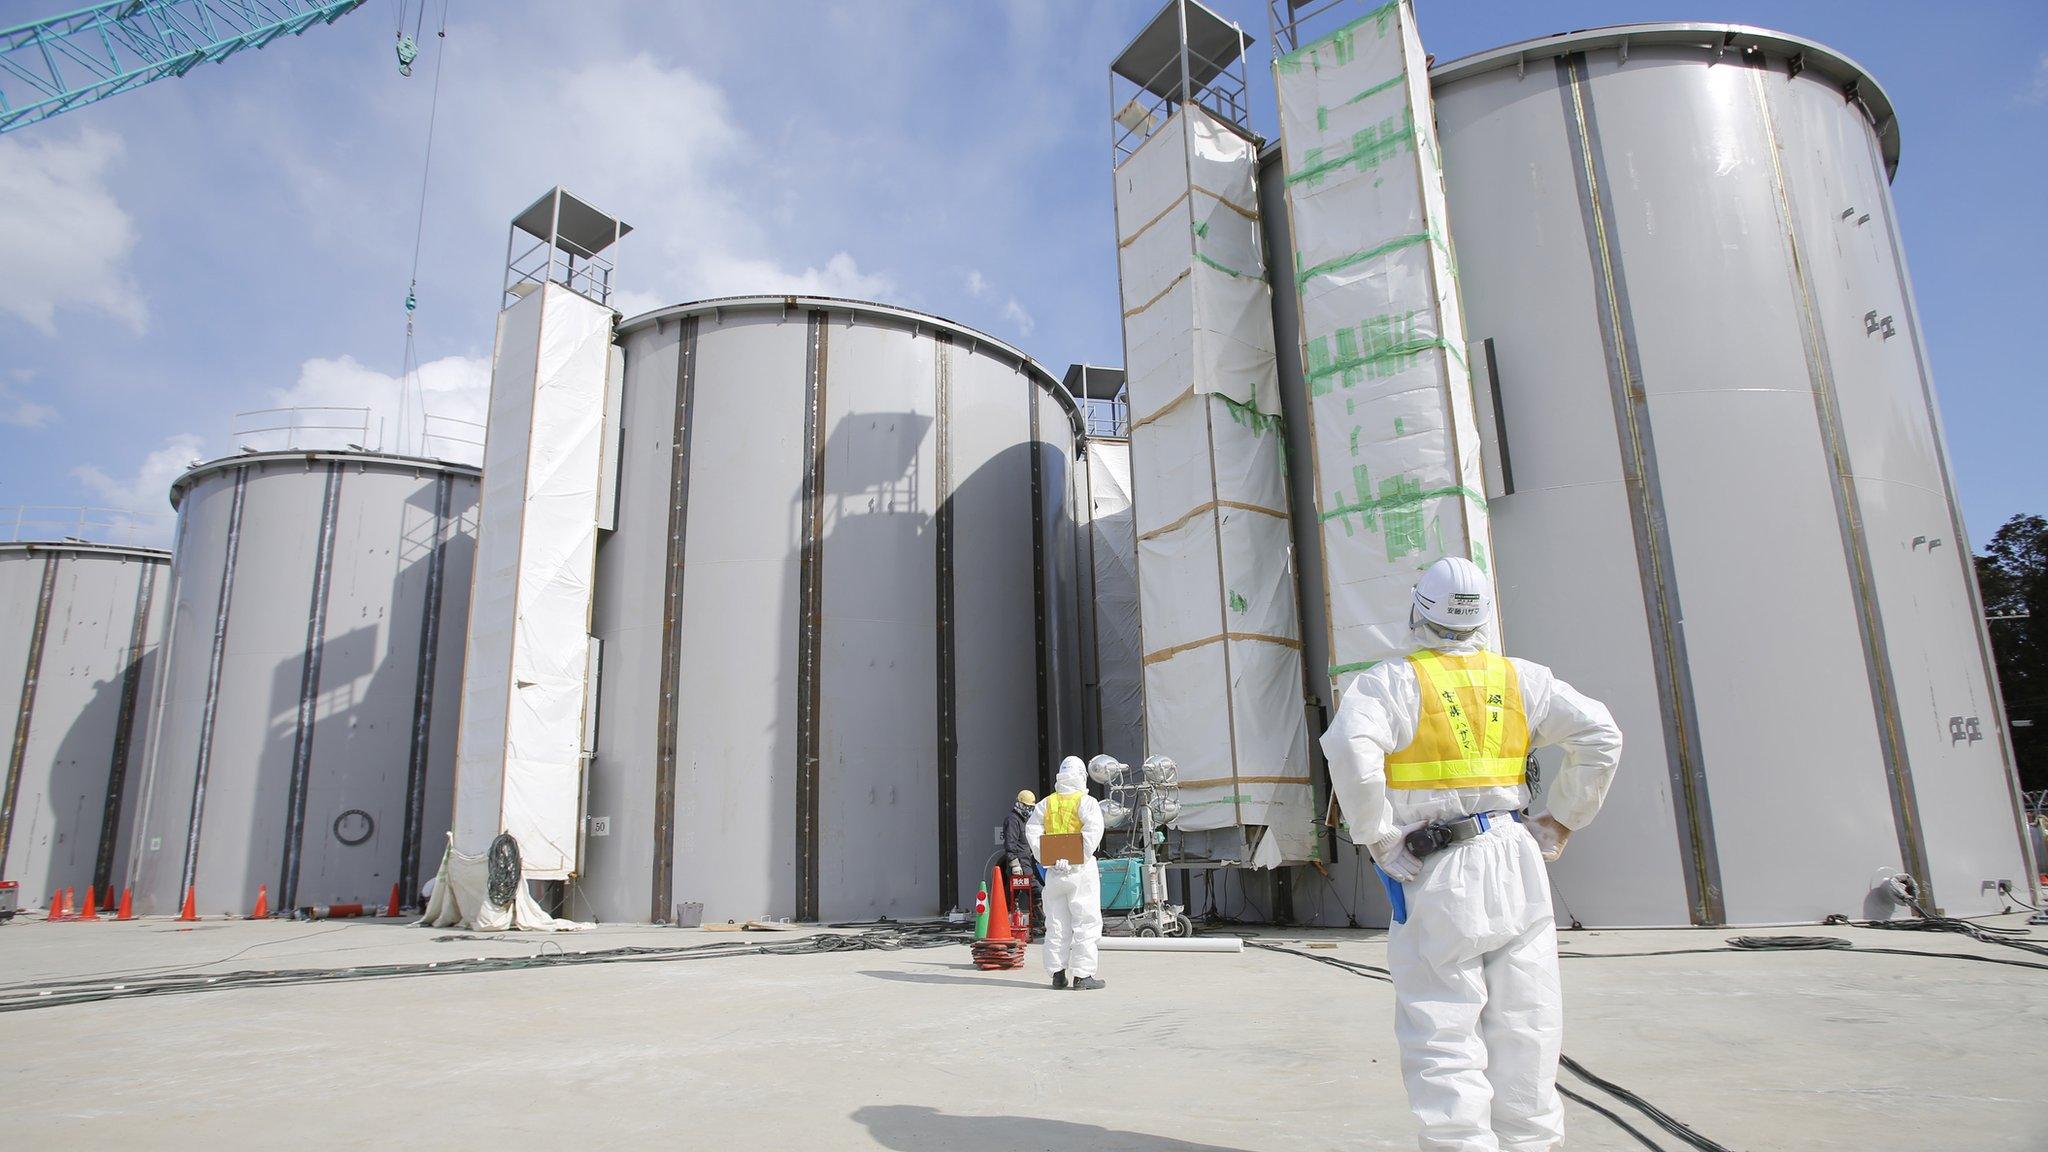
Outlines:
POLYGON ((492 365, 481 357, 442 357, 420 365, 420 389, 408 394, 401 379, 362 367, 354 357, 313 359, 299 365, 291 387, 270 394, 276 408, 326 408, 301 412, 297 433, 252 430, 281 424, 281 418, 248 420, 238 426, 236 447, 338 449, 362 445, 375 451, 430 455, 459 463, 481 463, 483 418, 492 400, 492 365), (307 428, 307 424, 344 424, 307 428))

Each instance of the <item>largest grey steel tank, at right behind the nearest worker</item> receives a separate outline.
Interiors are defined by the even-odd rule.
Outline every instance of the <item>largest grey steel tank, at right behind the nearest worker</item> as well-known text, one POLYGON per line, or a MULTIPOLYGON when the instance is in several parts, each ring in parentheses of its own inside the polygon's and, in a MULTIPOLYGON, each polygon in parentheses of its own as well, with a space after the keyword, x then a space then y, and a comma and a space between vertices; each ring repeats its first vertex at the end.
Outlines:
POLYGON ((1569 33, 1430 78, 1503 424, 1507 650, 1628 738, 1552 869, 1561 914, 1882 916, 1890 869, 1952 914, 2028 892, 1884 90, 1737 25, 1569 33))

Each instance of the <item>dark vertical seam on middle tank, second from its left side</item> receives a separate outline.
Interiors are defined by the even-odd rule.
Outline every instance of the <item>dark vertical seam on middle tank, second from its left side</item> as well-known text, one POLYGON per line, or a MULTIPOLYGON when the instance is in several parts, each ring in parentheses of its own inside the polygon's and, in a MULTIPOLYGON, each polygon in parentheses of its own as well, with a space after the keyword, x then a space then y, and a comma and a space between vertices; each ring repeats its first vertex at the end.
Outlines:
POLYGON ((809 312, 803 379, 803 551, 799 556, 797 652, 797 918, 819 918, 819 703, 825 568, 825 357, 827 312, 809 312))

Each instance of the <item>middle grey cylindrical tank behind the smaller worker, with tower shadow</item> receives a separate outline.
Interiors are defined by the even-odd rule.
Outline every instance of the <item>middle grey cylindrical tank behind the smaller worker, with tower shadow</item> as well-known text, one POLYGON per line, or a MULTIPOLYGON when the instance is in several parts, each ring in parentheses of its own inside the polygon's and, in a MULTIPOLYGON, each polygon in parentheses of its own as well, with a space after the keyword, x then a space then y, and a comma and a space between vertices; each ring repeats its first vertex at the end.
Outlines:
POLYGON ((973 906, 1079 750, 1073 398, 1030 357, 819 297, 627 320, 600 537, 600 920, 973 906))

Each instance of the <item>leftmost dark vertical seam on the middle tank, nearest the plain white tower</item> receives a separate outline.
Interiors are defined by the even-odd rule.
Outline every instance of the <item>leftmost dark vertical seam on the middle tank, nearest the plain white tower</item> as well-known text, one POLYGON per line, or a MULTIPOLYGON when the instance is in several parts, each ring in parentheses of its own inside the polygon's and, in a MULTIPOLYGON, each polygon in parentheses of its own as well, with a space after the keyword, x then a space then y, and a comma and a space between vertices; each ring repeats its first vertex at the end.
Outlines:
POLYGON ((662 699, 655 707, 653 758, 653 908, 666 924, 676 902, 676 748, 682 705, 682 592, 690 531, 690 435, 696 428, 696 316, 676 330, 676 412, 670 428, 668 543, 662 578, 662 699))

